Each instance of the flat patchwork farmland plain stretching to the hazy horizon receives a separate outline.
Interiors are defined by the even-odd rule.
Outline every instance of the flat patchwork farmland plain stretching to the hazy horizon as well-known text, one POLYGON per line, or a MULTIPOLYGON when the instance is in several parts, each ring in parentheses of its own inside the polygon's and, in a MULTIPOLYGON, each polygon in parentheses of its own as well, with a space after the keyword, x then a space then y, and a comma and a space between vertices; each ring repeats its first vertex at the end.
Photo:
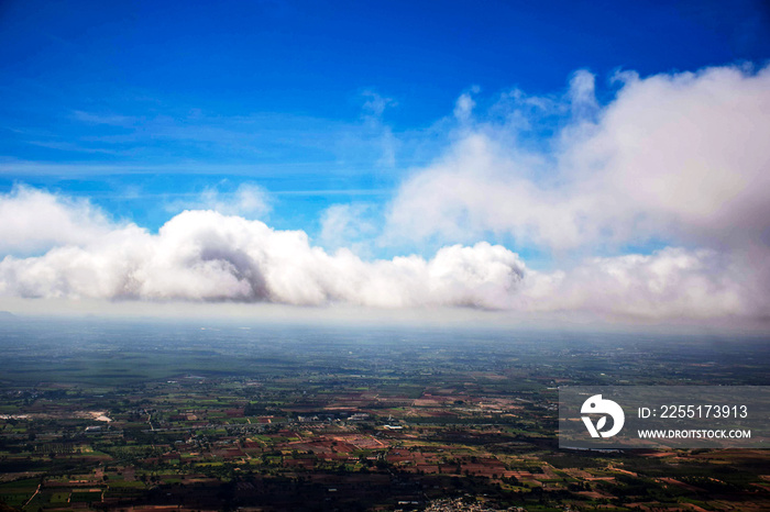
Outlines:
POLYGON ((558 386, 768 385, 761 340, 94 323, 0 343, 1 510, 770 509, 767 450, 556 437, 558 386))

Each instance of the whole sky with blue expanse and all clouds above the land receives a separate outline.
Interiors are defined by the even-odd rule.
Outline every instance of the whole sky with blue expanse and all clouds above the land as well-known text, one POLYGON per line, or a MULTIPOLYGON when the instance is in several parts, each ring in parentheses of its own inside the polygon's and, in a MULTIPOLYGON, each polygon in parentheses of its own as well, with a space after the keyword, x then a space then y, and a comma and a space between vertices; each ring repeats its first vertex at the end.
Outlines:
POLYGON ((0 309, 770 326, 766 2, 415 3, 0 2, 0 309))

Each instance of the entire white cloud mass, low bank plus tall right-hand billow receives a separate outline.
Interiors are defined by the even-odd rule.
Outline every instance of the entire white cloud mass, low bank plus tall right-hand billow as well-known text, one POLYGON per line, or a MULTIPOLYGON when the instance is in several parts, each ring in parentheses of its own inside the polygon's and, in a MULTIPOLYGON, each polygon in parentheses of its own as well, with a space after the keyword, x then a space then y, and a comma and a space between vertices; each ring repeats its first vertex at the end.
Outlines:
POLYGON ((157 233, 18 187, 0 197, 0 296, 767 321, 770 68, 614 82, 606 105, 578 71, 563 96, 510 91, 486 114, 476 89, 463 93, 453 143, 403 180, 384 219, 360 203, 323 212, 319 241, 336 252, 239 216, 270 209, 258 187, 211 193, 157 233), (350 242, 362 237, 441 248, 365 260, 350 242), (561 269, 479 242, 501 238, 561 269))

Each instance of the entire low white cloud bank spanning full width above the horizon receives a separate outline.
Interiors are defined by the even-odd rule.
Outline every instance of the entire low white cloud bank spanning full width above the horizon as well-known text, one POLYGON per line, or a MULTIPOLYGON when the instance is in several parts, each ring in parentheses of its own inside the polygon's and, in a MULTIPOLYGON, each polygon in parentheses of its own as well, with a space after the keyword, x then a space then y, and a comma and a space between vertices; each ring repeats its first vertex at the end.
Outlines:
MULTIPOLYGON (((33 192, 37 201, 28 209, 54 201, 72 218, 84 208, 43 191, 25 193, 33 192)), ((338 213, 344 227, 350 211, 338 213)), ((89 208, 82 220, 94 224, 102 218, 89 208)), ((13 218, 0 221, 9 225, 13 218)), ((185 211, 157 234, 133 224, 100 225, 101 231, 76 236, 80 227, 69 224, 64 229, 73 233, 59 233, 59 245, 42 256, 7 256, 0 261, 0 297, 470 307, 652 320, 765 318, 770 302, 767 281, 746 265, 751 254, 667 248, 538 272, 486 242, 444 246, 431 258, 367 261, 346 248, 329 253, 312 246, 301 231, 210 210, 185 211)))

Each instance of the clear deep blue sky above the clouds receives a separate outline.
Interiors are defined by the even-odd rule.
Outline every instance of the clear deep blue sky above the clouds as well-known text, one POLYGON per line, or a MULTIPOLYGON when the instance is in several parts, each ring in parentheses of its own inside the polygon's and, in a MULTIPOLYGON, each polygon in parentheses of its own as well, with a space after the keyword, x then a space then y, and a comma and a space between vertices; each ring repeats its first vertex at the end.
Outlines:
MULTIPOLYGON (((154 226, 141 200, 120 204, 123 187, 394 187, 444 141, 383 169, 367 91, 417 137, 473 86, 550 94, 581 68, 602 82, 770 55, 760 2, 9 1, 0 14, 0 186, 92 193, 154 226), (174 175, 135 175, 156 168, 174 175)), ((324 203, 305 199, 290 209, 324 203)))

